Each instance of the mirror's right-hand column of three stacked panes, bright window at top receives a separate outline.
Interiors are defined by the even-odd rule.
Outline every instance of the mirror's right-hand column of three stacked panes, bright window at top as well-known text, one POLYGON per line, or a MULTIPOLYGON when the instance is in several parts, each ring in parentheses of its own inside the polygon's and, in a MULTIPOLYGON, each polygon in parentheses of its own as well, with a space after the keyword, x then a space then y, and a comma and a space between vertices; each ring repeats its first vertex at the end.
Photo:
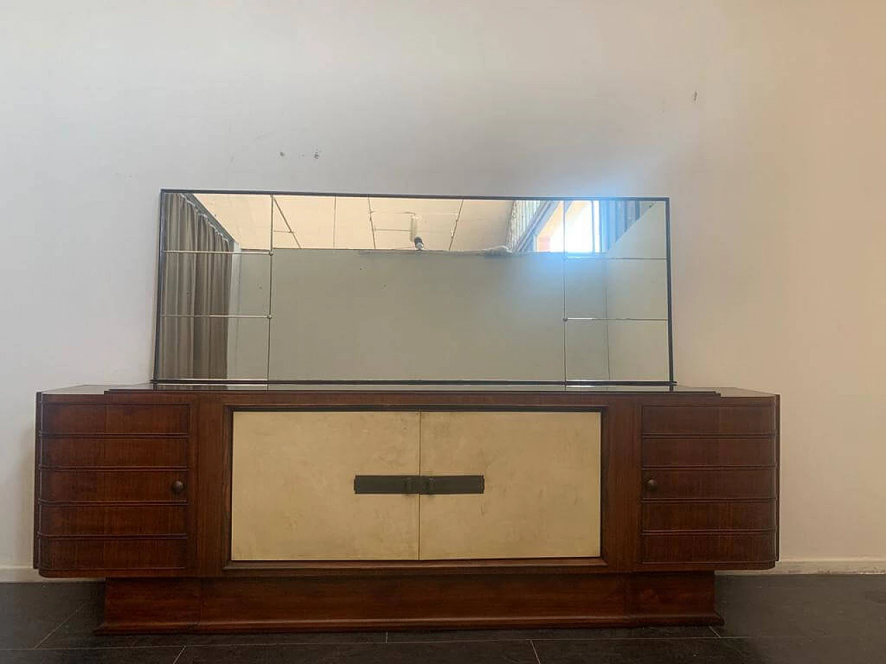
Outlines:
POLYGON ((573 201, 565 212, 566 380, 670 375, 664 201, 573 201))

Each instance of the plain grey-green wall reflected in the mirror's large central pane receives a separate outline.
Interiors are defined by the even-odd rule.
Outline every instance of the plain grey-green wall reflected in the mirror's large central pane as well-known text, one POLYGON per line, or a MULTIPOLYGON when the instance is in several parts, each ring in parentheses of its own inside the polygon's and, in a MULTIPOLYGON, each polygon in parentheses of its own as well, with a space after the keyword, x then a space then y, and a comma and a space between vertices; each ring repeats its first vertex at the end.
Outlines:
POLYGON ((559 257, 280 250, 273 277, 272 380, 562 380, 559 257))

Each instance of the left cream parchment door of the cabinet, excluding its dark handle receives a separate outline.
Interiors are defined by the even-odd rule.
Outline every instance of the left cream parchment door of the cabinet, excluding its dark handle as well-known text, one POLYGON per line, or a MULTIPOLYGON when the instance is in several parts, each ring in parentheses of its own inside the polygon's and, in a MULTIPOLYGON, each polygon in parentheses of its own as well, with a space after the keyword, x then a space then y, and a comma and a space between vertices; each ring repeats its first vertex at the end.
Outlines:
POLYGON ((416 560, 418 496, 356 495, 415 475, 418 413, 236 412, 232 560, 416 560))

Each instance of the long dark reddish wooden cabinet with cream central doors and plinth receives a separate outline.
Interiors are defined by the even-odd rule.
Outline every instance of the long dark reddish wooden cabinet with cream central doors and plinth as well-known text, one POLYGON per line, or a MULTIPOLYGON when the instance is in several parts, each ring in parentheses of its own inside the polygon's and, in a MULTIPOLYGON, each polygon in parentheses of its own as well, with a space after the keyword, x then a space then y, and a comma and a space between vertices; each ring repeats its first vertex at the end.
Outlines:
POLYGON ((773 567, 778 398, 82 387, 37 395, 34 564, 105 631, 719 622, 773 567))

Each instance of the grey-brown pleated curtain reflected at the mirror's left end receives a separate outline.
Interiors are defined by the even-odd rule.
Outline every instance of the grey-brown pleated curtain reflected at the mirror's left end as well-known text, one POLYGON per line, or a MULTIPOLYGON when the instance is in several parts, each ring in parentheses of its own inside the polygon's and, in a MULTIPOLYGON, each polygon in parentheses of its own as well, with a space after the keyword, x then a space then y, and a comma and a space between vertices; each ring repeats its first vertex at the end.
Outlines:
MULTIPOLYGON (((162 205, 166 249, 234 251, 230 235, 184 194, 166 194, 162 205)), ((229 319, 206 314, 229 314, 231 258, 225 253, 164 254, 160 313, 175 315, 159 320, 158 378, 228 377, 229 319)))

